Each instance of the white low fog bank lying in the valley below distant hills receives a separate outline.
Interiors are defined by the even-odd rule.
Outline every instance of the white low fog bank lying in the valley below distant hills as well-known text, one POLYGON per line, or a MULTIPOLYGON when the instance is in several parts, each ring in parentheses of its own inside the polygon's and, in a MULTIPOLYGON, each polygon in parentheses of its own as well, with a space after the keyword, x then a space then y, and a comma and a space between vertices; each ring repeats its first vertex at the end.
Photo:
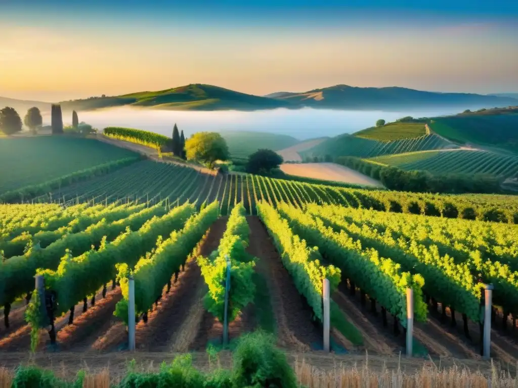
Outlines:
MULTIPOLYGON (((185 136, 200 131, 242 130, 272 132, 290 135, 299 140, 352 133, 375 125, 379 118, 386 122, 404 116, 431 117, 462 112, 466 108, 447 107, 433 110, 392 111, 341 111, 304 108, 298 110, 275 109, 255 112, 239 111, 163 111, 138 108, 112 108, 79 112, 79 121, 102 130, 105 127, 130 127, 171 136, 176 123, 185 136)), ((71 114, 64 112, 63 123, 70 124, 71 114)), ((50 116, 44 116, 50 124, 50 116)))

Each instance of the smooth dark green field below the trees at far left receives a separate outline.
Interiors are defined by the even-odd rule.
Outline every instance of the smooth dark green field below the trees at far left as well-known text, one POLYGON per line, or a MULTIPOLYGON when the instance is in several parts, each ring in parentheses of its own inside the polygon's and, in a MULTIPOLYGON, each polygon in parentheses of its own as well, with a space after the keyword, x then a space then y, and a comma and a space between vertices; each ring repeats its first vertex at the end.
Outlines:
POLYGON ((0 194, 136 156, 134 152, 94 139, 4 138, 0 140, 0 194))

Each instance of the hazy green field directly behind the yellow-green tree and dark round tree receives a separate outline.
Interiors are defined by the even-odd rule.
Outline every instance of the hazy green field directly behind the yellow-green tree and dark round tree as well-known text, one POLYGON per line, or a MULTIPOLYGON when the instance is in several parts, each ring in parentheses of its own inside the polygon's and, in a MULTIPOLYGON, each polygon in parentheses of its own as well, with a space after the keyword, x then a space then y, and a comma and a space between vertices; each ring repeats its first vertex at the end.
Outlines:
POLYGON ((269 132, 222 131, 221 136, 227 142, 233 160, 245 160, 261 148, 279 151, 299 142, 291 136, 269 132))

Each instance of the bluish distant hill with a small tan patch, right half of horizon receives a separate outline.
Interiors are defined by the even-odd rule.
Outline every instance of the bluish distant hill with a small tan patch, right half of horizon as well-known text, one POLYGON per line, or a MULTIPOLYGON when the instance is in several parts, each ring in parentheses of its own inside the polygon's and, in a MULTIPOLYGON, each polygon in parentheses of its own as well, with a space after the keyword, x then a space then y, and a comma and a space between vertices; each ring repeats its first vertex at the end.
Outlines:
POLYGON ((509 97, 484 96, 467 93, 423 92, 404 87, 355 87, 336 85, 303 93, 279 92, 269 94, 292 105, 335 109, 395 109, 431 106, 494 107, 515 105, 509 97))

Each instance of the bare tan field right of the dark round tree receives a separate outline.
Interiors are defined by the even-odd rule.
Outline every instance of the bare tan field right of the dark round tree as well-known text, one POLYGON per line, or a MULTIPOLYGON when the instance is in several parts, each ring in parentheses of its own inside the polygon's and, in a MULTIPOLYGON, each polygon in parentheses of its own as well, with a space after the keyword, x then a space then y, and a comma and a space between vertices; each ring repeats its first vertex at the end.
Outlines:
POLYGON ((302 163, 281 165, 281 170, 289 175, 315 178, 325 181, 352 183, 355 185, 383 187, 371 177, 335 163, 302 163))

